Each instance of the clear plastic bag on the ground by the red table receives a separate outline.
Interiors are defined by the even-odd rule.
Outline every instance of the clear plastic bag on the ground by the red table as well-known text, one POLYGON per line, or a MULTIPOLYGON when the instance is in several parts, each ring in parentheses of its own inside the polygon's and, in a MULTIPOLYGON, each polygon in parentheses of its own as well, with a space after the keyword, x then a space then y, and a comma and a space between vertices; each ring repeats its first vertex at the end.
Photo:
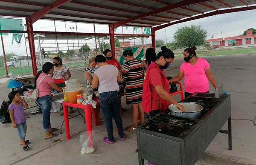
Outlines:
POLYGON ((83 132, 80 134, 81 154, 90 154, 95 151, 93 147, 93 131, 83 132))

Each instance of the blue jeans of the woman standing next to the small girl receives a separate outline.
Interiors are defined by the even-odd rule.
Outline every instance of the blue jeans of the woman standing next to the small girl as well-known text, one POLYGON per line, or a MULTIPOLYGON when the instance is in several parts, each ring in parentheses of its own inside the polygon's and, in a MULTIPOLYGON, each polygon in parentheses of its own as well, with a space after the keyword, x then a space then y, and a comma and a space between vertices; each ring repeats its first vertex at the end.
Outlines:
POLYGON ((49 131, 49 127, 51 126, 50 115, 52 108, 52 100, 51 96, 43 96, 38 97, 36 103, 41 107, 43 112, 43 127, 44 131, 49 131))

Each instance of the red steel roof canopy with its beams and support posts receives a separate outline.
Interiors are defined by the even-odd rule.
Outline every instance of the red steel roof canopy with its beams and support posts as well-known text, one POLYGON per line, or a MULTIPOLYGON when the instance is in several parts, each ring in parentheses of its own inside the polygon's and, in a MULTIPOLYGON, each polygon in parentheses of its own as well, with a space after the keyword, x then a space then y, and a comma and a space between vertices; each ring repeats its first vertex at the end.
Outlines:
MULTIPOLYGON (((118 34, 114 33, 114 29, 119 26, 150 27, 150 35, 120 36, 151 36, 152 47, 155 48, 155 31, 162 28, 212 15, 253 9, 256 9, 256 0, 0 0, 0 15, 26 18, 27 31, 21 32, 28 34, 34 75, 37 73, 34 34, 55 34, 55 37, 61 34, 88 37, 108 35, 115 56, 115 36, 118 34), (39 19, 108 24, 109 33, 33 31, 33 23, 39 19)), ((20 31, 0 29, 0 32, 20 31)), ((4 60, 6 63, 5 55, 4 60)))

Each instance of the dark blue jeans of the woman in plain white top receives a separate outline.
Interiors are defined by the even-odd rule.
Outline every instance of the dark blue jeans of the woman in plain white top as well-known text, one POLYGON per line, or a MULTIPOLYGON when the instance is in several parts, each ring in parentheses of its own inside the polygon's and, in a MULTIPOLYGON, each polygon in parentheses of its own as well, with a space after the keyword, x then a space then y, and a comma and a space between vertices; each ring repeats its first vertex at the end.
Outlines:
POLYGON ((108 132, 108 139, 113 142, 113 123, 112 116, 115 119, 116 127, 120 138, 124 137, 122 119, 120 117, 120 101, 119 91, 110 91, 99 94, 99 105, 105 117, 105 124, 108 132))

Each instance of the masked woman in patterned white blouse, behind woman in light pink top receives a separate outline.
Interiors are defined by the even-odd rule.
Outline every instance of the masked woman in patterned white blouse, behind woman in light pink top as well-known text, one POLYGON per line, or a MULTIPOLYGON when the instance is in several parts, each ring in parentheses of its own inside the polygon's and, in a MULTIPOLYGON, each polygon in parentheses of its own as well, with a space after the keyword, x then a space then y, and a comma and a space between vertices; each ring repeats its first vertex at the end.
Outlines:
MULTIPOLYGON (((69 80, 71 77, 70 71, 67 66, 62 65, 61 57, 54 57, 52 60, 54 67, 54 70, 52 72, 52 79, 65 79, 69 80)), ((64 84, 58 84, 58 87, 63 86, 64 84)), ((68 112, 69 114, 73 114, 74 110, 73 107, 70 107, 70 110, 68 112)), ((59 115, 63 115, 63 111, 59 111, 59 115)))

